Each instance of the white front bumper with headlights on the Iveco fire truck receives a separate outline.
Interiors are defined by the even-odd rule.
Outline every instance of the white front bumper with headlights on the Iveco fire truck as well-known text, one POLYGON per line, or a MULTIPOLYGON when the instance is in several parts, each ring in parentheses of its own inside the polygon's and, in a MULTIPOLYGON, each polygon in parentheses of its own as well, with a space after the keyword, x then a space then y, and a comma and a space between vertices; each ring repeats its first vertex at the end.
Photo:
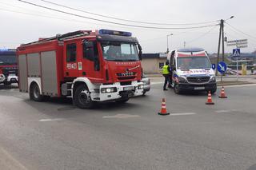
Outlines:
POLYGON ((98 97, 92 97, 94 101, 114 101, 141 96, 143 94, 143 83, 135 82, 131 85, 101 85, 98 97))

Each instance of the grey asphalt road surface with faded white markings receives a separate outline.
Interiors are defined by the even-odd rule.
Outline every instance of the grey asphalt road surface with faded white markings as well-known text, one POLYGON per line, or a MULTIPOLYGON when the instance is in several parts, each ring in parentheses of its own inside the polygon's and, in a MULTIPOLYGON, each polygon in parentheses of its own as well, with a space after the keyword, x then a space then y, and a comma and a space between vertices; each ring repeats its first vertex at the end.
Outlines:
POLYGON ((228 87, 205 105, 206 93, 155 84, 124 105, 82 110, 0 87, 0 169, 256 169, 255 89, 228 87), (170 116, 158 115, 162 97, 170 116))

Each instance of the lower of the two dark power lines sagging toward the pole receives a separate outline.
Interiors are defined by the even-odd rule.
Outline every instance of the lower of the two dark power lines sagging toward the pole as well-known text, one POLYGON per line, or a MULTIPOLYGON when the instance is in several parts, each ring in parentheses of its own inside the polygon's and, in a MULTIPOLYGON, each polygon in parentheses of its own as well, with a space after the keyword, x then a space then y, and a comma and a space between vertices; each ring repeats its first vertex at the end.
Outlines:
POLYGON ((131 27, 137 27, 137 28, 146 28, 146 29, 157 29, 157 30, 185 30, 185 29, 198 29, 198 28, 205 28, 205 27, 211 27, 211 26, 218 26, 218 24, 214 24, 214 25, 207 25, 207 26, 190 26, 190 27, 155 27, 155 26, 138 26, 138 25, 130 25, 130 24, 125 24, 125 23, 118 23, 118 22, 110 22, 110 21, 106 21, 106 20, 102 20, 102 19, 97 19, 97 18, 90 18, 90 17, 86 17, 86 16, 82 16, 79 14, 72 14, 69 12, 65 12, 63 10, 56 10, 54 8, 50 8, 47 6, 41 6, 32 2, 26 2, 23 0, 18 0, 20 2, 24 2, 26 4, 30 4, 32 6, 38 6, 47 10, 53 10, 62 14, 69 14, 69 15, 73 15, 75 17, 79 17, 79 18, 86 18, 86 19, 90 19, 90 20, 94 20, 94 21, 98 21, 98 22, 106 22, 106 23, 110 23, 110 24, 115 24, 115 25, 120 25, 120 26, 131 26, 131 27))

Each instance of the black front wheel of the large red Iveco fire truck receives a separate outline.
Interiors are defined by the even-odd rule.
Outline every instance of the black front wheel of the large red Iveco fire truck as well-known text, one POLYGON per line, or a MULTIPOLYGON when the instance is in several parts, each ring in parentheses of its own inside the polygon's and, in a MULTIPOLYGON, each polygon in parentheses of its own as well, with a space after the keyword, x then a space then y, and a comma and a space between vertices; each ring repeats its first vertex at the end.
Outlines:
POLYGON ((90 98, 90 92, 86 85, 78 85, 74 91, 74 105, 80 109, 92 109, 94 101, 90 98))

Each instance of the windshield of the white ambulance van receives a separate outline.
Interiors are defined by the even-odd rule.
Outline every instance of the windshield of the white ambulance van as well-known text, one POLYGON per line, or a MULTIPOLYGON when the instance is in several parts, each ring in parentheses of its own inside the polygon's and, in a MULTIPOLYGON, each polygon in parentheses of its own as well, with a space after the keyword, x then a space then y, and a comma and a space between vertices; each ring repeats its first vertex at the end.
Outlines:
POLYGON ((210 69, 208 57, 178 57, 178 69, 210 69))

